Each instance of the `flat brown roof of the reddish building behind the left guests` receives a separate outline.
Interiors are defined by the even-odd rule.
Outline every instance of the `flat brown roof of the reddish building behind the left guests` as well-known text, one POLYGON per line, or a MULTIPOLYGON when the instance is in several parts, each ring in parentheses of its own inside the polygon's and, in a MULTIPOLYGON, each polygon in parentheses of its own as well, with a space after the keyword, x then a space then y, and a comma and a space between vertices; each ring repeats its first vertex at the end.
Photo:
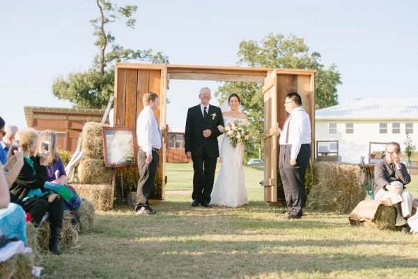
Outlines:
MULTIPOLYGON (((26 123, 28 127, 31 127, 33 112, 43 112, 47 114, 90 114, 98 116, 98 120, 102 119, 105 110, 93 110, 93 109, 69 109, 63 107, 24 107, 24 114, 26 116, 26 123), (99 117, 100 116, 100 117, 99 117)), ((54 116, 49 116, 49 119, 54 119, 54 116)))

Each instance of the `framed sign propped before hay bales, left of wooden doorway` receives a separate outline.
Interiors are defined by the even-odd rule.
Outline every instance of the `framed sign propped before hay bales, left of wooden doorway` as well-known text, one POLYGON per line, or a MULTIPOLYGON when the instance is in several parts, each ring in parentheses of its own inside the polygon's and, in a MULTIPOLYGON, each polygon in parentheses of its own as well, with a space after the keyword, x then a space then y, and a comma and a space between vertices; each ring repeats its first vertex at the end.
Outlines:
POLYGON ((106 167, 137 167, 134 128, 103 127, 103 155, 106 167))

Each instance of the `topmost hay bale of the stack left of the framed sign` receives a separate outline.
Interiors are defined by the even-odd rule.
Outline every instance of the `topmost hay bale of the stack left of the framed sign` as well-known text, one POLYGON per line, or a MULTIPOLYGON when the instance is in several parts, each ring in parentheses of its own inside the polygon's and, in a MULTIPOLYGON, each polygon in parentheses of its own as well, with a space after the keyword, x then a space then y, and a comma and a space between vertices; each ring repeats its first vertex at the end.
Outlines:
POLYGON ((103 127, 109 127, 109 125, 98 122, 84 124, 81 149, 86 152, 86 157, 103 158, 103 127))

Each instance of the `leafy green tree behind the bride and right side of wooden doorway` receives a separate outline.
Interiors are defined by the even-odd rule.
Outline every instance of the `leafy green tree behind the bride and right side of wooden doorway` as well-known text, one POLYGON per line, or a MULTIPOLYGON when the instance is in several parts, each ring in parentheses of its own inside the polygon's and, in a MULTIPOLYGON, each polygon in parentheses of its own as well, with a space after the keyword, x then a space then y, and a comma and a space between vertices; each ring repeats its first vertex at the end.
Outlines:
MULTIPOLYGON (((320 63, 320 54, 312 52, 302 38, 294 35, 269 33, 260 43, 256 40, 242 40, 238 51, 238 66, 313 69, 316 73, 316 105, 315 108, 330 107, 338 104, 336 86, 341 84, 341 76, 332 64, 325 69, 320 63)), ((250 82, 224 82, 215 96, 223 103, 231 93, 238 93, 242 100, 242 108, 249 116, 251 132, 255 146, 246 149, 246 158, 258 158, 262 155, 263 145, 263 96, 260 93, 263 84, 250 82)))

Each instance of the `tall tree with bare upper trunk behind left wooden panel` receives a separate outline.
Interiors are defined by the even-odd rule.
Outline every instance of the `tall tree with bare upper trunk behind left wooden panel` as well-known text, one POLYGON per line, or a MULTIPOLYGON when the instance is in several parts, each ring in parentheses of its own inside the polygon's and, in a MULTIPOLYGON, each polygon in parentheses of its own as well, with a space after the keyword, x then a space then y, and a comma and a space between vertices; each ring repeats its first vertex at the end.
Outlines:
POLYGON ((125 62, 131 59, 152 63, 169 63, 162 52, 153 50, 130 50, 121 45, 112 44, 115 37, 106 31, 107 24, 121 20, 126 27, 134 28, 136 20, 132 14, 137 6, 118 7, 109 0, 96 0, 99 17, 91 20, 96 37, 95 45, 99 53, 93 59, 93 66, 81 73, 70 73, 67 78, 57 77, 52 84, 54 96, 63 100, 70 100, 79 108, 103 108, 110 96, 114 94, 114 62, 125 62), (106 52, 111 44, 111 51, 106 52))

